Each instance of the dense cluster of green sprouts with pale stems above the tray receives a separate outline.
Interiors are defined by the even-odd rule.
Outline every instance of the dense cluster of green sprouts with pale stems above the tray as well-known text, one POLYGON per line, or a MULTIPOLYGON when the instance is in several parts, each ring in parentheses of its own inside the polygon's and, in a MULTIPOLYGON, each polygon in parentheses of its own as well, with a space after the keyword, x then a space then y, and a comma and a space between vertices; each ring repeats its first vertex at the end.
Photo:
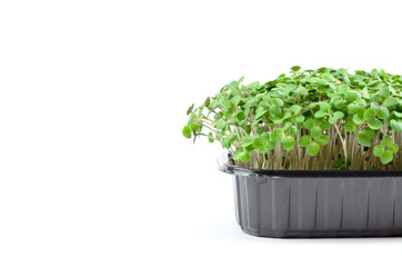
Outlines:
POLYGON ((402 78, 294 66, 263 85, 224 86, 188 110, 187 138, 221 142, 253 169, 402 169, 402 78))

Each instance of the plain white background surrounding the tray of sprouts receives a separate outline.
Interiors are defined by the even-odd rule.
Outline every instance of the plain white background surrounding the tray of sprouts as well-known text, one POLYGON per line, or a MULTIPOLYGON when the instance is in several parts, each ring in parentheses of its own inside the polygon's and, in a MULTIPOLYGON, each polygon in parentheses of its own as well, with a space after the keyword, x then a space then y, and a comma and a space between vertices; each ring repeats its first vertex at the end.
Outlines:
POLYGON ((181 129, 241 76, 401 73, 400 14, 386 0, 0 1, 0 266, 394 265, 401 238, 243 234, 219 145, 181 129))

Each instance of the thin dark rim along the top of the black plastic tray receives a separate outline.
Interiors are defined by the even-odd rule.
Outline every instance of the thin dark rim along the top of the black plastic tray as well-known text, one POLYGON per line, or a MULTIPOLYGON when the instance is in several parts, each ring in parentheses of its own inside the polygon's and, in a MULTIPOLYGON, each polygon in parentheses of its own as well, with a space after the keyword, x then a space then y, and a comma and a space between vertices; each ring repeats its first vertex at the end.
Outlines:
POLYGON ((402 169, 398 170, 262 170, 245 169, 232 165, 224 164, 219 168, 225 174, 243 175, 243 176, 264 176, 271 178, 381 178, 381 177, 400 177, 402 178, 402 169))

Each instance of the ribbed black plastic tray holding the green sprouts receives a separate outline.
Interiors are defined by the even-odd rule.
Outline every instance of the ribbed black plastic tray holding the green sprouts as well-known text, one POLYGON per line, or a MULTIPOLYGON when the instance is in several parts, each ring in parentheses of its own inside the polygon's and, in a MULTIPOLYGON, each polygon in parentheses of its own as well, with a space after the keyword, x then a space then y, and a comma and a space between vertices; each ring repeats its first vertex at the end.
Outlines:
POLYGON ((232 174, 237 219, 262 237, 402 236, 402 170, 251 170, 232 174))

